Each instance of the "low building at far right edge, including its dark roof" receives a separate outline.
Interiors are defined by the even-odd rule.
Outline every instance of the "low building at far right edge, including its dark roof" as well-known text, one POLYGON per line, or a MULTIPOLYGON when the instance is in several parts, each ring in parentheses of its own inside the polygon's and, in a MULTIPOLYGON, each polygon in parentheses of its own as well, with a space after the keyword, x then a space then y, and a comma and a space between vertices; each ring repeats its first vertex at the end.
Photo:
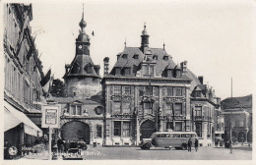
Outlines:
POLYGON ((224 109, 224 139, 232 141, 252 142, 252 95, 229 97, 222 101, 224 109))

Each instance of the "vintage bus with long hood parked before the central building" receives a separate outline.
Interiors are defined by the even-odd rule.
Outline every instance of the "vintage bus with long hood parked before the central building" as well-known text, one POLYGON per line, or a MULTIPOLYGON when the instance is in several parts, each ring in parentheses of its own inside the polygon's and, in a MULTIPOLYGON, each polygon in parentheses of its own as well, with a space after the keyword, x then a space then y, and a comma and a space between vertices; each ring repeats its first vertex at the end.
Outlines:
POLYGON ((151 138, 143 138, 140 146, 142 149, 150 149, 152 146, 187 149, 189 138, 194 146, 197 138, 197 134, 194 132, 157 132, 153 133, 151 138))

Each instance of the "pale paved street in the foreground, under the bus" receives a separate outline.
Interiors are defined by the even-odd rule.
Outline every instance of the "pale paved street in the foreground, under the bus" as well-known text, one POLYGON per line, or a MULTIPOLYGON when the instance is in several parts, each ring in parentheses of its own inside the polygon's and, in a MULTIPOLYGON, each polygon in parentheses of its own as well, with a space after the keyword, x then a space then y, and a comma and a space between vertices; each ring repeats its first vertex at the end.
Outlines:
MULTIPOLYGON (((83 157, 87 160, 251 160, 252 148, 236 147, 233 153, 227 148, 200 147, 197 152, 187 150, 168 150, 165 148, 151 148, 142 150, 140 147, 93 147, 90 145, 83 151, 83 157)), ((47 152, 27 155, 22 159, 47 159, 47 152)), ((61 156, 59 156, 61 159, 61 156)))

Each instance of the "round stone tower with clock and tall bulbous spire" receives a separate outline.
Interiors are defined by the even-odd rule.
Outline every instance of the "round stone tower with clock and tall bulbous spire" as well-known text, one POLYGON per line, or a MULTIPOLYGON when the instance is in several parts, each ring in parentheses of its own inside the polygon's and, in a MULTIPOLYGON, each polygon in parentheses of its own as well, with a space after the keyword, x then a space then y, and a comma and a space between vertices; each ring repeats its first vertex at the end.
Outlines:
POLYGON ((79 23, 81 29, 76 38, 76 54, 72 63, 65 66, 66 96, 91 97, 100 90, 100 77, 98 65, 95 65, 90 54, 90 36, 86 33, 87 23, 84 18, 79 23))

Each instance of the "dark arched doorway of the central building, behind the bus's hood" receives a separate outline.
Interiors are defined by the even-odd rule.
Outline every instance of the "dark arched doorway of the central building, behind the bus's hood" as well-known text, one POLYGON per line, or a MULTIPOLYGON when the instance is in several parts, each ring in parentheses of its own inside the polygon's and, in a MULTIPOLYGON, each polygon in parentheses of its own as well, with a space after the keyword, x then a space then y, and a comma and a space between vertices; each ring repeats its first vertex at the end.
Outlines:
POLYGON ((146 120, 141 124, 141 139, 150 138, 151 135, 157 132, 156 123, 151 120, 146 120))

